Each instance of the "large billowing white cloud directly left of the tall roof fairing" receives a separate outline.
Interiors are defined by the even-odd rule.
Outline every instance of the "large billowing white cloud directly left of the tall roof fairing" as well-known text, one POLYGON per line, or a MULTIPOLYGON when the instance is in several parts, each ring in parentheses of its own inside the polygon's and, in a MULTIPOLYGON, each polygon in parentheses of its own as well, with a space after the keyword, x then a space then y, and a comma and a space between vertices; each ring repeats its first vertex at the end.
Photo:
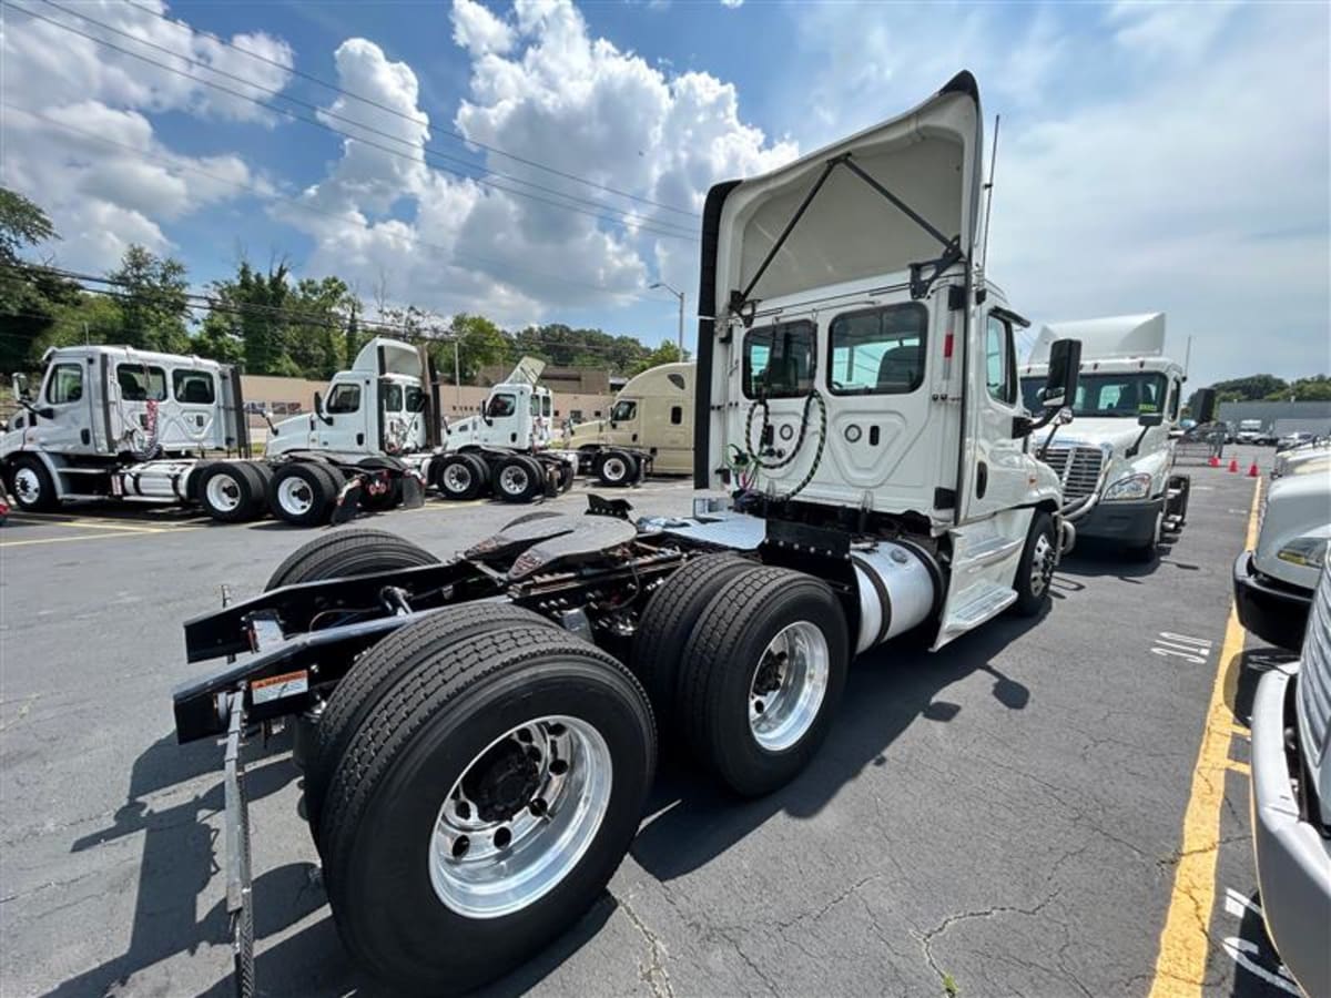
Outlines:
MULTIPOLYGON (((692 213, 715 181, 769 169, 796 153, 793 144, 768 142, 740 120, 732 85, 705 73, 669 76, 591 37, 571 3, 519 0, 500 20, 473 0, 457 0, 453 23, 455 40, 471 57, 469 93, 454 126, 479 144, 478 153, 483 145, 519 157, 483 152, 486 168, 506 178, 462 177, 455 164, 427 154, 426 145, 449 156, 466 150, 445 148, 447 138, 431 140, 411 69, 354 39, 338 49, 341 85, 414 121, 362 117, 369 112, 355 101, 331 109, 398 136, 401 142, 370 138, 403 154, 347 140, 342 160, 302 194, 335 217, 277 209, 314 237, 311 270, 347 275, 363 294, 386 283, 397 301, 523 322, 590 303, 614 309, 658 275, 692 293, 696 217, 522 160, 692 213), (591 217, 623 218, 618 213, 624 212, 627 225, 591 217), (666 238, 652 228, 689 240, 666 238)), ((345 122, 333 124, 345 129, 345 122)))

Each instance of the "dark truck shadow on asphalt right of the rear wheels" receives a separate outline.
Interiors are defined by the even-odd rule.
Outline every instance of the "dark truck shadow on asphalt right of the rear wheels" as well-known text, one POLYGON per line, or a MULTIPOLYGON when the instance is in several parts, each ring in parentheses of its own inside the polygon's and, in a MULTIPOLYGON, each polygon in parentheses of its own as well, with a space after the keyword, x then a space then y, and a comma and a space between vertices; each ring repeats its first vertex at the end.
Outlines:
POLYGON ((898 639, 857 659, 827 743, 799 778, 768 797, 741 800, 667 747, 667 765, 648 804, 656 817, 638 833, 634 858, 658 880, 669 881, 724 853, 777 812, 817 814, 865 766, 886 765, 885 752, 917 719, 945 724, 956 717, 961 707, 938 693, 974 672, 994 677, 993 696, 1004 707, 1024 709, 1030 691, 990 661, 1038 621, 1000 617, 937 655, 898 639))

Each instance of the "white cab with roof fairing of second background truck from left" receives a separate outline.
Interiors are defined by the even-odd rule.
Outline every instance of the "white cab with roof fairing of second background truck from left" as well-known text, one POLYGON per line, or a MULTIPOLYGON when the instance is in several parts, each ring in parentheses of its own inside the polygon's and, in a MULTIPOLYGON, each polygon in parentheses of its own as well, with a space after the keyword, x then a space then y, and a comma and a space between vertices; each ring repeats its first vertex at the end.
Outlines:
POLYGON ((375 337, 349 370, 315 394, 314 411, 272 424, 269 458, 318 451, 335 460, 403 455, 430 446, 426 362, 415 347, 375 337))

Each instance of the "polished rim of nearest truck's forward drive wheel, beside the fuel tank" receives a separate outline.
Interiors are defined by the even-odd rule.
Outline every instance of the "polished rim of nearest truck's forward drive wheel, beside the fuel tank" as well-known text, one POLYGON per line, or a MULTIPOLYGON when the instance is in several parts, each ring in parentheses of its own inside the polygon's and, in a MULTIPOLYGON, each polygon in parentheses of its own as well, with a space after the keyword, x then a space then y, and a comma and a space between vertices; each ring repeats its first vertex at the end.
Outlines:
POLYGON ((803 739, 828 691, 831 653, 815 624, 781 628, 759 656, 749 680, 749 731, 768 752, 784 752, 803 739))

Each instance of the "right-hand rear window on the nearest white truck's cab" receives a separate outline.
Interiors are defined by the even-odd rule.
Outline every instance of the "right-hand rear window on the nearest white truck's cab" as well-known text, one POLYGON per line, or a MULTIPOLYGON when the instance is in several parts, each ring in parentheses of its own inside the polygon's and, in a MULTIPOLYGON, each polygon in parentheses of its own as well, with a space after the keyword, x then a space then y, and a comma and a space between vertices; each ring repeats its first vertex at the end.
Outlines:
POLYGON ((848 311, 832 319, 828 387, 833 395, 908 395, 924 385, 922 305, 848 311))

